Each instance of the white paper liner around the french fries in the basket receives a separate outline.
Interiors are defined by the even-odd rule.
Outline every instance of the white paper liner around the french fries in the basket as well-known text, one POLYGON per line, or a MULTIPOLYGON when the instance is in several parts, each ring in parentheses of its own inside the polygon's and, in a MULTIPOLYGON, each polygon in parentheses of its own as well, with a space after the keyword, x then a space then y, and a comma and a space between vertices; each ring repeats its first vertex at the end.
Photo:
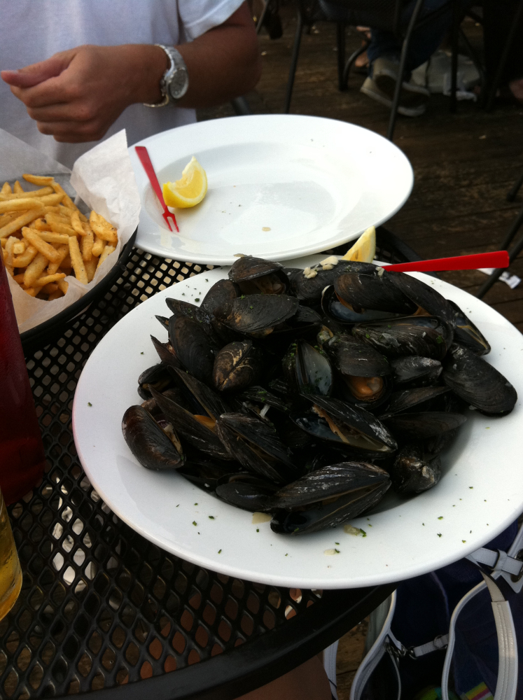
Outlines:
POLYGON ((20 180, 25 190, 37 189, 22 180, 24 173, 53 175, 71 197, 78 195, 76 204, 84 213, 95 209, 116 227, 118 244, 116 251, 97 269, 90 283, 82 284, 76 277, 67 276, 67 294, 54 301, 30 297, 8 274, 20 333, 53 318, 104 279, 111 267, 118 262, 122 246, 137 228, 140 213, 140 195, 127 151, 125 130, 81 155, 71 173, 53 158, 0 129, 0 186, 4 181, 13 185, 15 180, 20 180), (87 208, 82 202, 85 202, 87 208))

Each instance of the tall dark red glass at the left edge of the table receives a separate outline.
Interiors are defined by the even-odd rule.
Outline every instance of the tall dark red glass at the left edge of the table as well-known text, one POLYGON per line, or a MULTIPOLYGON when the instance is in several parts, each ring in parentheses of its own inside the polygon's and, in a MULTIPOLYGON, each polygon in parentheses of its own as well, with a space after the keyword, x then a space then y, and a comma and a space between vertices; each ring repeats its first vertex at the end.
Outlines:
POLYGON ((0 489, 7 504, 43 475, 46 458, 3 255, 0 254, 0 489))

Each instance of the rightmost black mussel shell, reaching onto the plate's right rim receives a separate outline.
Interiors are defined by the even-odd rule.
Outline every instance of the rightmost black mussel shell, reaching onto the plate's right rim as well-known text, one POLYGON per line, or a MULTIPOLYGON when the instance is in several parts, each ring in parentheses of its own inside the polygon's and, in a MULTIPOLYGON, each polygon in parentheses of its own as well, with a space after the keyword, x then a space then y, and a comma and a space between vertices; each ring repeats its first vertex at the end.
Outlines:
POLYGON ((482 413, 510 413, 517 401, 515 388, 501 372, 458 344, 449 350, 442 378, 454 393, 482 413))

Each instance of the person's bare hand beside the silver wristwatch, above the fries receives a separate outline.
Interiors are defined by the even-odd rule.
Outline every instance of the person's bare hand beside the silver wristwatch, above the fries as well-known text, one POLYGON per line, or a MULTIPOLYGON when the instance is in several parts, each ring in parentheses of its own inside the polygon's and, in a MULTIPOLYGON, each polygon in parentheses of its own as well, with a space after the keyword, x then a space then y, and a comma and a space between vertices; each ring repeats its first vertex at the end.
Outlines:
POLYGON ((165 52, 153 45, 84 45, 1 78, 42 134, 80 143, 104 137, 134 102, 159 102, 165 52))

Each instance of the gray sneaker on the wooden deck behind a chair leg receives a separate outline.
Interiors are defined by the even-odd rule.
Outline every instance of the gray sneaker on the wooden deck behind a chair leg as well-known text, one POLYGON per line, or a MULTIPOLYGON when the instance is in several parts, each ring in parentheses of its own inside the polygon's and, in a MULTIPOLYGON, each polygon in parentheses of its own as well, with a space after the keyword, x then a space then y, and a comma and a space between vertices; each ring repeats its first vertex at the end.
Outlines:
MULTIPOLYGON (((398 63, 385 58, 377 58, 372 64, 372 78, 369 77, 365 80, 360 92, 386 107, 391 107, 397 80, 398 63)), ((425 112, 429 97, 430 92, 426 87, 403 81, 398 112, 405 117, 419 117, 425 112)))

